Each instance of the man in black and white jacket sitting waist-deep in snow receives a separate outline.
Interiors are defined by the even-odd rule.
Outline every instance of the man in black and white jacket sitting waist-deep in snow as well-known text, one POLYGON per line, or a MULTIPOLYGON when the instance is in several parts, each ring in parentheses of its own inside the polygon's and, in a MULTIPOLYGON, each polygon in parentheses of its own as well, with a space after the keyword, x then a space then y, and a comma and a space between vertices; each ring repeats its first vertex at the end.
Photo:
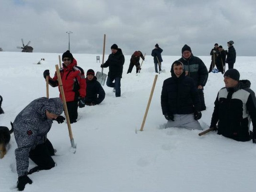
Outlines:
POLYGON ((239 78, 240 74, 236 69, 228 69, 224 73, 225 87, 217 94, 210 127, 217 129, 219 135, 236 141, 249 141, 252 137, 253 143, 256 143, 255 93, 250 89, 249 80, 239 78))

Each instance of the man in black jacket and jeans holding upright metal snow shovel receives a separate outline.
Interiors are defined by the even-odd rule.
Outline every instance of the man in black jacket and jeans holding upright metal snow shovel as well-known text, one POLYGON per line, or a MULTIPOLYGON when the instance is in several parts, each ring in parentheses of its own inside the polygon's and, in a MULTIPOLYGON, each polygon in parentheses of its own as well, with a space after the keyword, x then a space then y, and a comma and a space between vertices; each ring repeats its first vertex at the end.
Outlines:
POLYGON ((111 54, 108 56, 108 60, 101 64, 100 67, 109 67, 107 86, 113 87, 113 91, 116 97, 121 96, 121 78, 123 73, 124 55, 122 49, 118 48, 116 44, 111 46, 111 54), (113 81, 115 81, 113 83, 113 81))

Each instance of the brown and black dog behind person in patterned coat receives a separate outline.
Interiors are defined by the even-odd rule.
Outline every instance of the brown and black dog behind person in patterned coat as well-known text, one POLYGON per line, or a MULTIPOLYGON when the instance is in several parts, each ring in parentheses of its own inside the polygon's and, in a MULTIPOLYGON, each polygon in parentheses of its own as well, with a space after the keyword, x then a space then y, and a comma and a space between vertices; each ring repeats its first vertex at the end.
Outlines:
POLYGON ((11 122, 12 129, 8 127, 0 126, 0 159, 6 154, 6 145, 10 142, 11 133, 13 133, 13 124, 11 122))

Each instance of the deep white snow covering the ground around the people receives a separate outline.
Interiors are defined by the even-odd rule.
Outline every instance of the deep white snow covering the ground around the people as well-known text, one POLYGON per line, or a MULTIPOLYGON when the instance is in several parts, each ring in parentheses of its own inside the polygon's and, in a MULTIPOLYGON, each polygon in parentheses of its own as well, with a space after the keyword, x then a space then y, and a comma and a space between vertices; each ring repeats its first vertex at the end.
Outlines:
MULTIPOLYGON (((109 51, 110 52, 110 51, 109 51)), ((106 52, 108 53, 108 52, 106 52)), ((152 102, 144 126, 138 131, 156 73, 153 58, 147 53, 141 73, 135 68, 126 74, 130 55, 125 56, 121 97, 112 88, 103 87, 105 100, 97 106, 79 108, 79 121, 71 124, 76 153, 70 152, 67 124, 53 123, 48 138, 57 149, 57 166, 33 173, 27 184, 30 192, 252 192, 256 190, 256 145, 237 142, 216 132, 199 137, 198 130, 162 129, 166 120, 161 112, 160 95, 163 81, 170 77, 170 66, 180 56, 163 56, 163 69, 158 75, 152 102)), ((32 100, 46 96, 43 71, 54 75, 58 55, 53 53, 0 52, 0 95, 3 96, 0 126, 8 126, 32 100), (41 65, 37 63, 41 58, 41 65)), ((73 54, 85 72, 101 71, 96 55, 73 54)), ((107 58, 107 54, 105 58, 107 58)), ((100 56, 102 57, 102 56, 100 56)), ((210 56, 200 57, 207 68, 210 56)), ((240 79, 249 79, 256 91, 256 58, 237 57, 235 68, 240 79)), ((104 73, 108 68, 104 68, 104 73)), ((209 128, 214 100, 224 86, 223 75, 209 74, 205 86, 207 109, 199 120, 209 128)), ((49 87, 50 97, 58 97, 57 88, 49 87)), ((17 172, 12 135, 10 148, 0 159, 0 191, 16 191, 17 172)), ((30 161, 29 168, 35 164, 30 161)))

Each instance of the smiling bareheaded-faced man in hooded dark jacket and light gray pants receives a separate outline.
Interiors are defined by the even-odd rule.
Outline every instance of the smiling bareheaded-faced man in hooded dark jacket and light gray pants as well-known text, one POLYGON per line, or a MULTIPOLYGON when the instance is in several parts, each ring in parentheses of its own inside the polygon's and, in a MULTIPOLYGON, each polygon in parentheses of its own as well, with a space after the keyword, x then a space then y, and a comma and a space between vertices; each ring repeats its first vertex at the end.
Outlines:
POLYGON ((161 107, 167 127, 202 129, 197 121, 202 117, 200 99, 194 80, 185 75, 181 61, 174 61, 172 77, 164 80, 161 93, 161 107))

